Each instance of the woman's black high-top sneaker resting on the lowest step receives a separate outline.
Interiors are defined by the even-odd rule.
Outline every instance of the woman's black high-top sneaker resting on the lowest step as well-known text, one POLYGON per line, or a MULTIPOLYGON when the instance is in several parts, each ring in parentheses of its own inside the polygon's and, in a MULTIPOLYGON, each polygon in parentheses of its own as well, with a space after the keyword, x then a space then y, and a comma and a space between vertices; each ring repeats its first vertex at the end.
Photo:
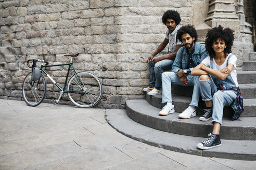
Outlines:
POLYGON ((212 149, 221 146, 220 135, 209 133, 208 139, 204 140, 202 143, 197 144, 200 149, 212 149))

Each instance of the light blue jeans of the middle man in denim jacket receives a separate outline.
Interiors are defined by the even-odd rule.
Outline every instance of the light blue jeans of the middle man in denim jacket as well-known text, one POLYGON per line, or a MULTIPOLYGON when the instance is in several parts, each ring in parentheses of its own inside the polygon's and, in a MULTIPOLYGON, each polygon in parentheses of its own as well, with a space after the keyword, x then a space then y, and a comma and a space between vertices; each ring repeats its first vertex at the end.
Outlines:
POLYGON ((180 84, 182 86, 194 86, 194 91, 192 95, 192 100, 190 106, 198 107, 198 101, 200 97, 199 90, 199 76, 187 76, 187 84, 181 83, 181 79, 174 72, 164 72, 162 74, 162 103, 171 102, 172 103, 172 83, 180 84))

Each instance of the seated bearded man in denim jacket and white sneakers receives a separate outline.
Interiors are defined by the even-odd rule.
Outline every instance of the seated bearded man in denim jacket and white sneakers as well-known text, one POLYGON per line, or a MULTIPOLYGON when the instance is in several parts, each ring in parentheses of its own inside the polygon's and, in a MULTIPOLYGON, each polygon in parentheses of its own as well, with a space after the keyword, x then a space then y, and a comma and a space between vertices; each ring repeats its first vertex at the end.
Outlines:
POLYGON ((165 116, 174 113, 172 104, 171 84, 180 84, 183 86, 194 86, 192 100, 189 107, 184 110, 178 117, 188 119, 196 116, 196 107, 200 97, 199 77, 190 75, 201 61, 208 56, 204 45, 197 43, 197 32, 194 26, 182 26, 177 33, 178 39, 182 41, 184 47, 180 48, 176 54, 175 61, 172 65, 172 72, 162 74, 163 97, 162 103, 167 103, 159 112, 159 115, 165 116))

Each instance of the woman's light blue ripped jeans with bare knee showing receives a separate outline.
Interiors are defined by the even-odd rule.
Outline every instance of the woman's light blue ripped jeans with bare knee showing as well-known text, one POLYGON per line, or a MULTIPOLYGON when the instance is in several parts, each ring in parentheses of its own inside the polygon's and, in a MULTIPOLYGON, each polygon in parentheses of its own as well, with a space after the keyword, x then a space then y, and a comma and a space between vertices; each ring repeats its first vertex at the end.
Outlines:
POLYGON ((236 99, 233 90, 219 90, 211 79, 199 80, 200 93, 203 101, 212 100, 212 124, 222 124, 223 107, 231 105, 236 99))

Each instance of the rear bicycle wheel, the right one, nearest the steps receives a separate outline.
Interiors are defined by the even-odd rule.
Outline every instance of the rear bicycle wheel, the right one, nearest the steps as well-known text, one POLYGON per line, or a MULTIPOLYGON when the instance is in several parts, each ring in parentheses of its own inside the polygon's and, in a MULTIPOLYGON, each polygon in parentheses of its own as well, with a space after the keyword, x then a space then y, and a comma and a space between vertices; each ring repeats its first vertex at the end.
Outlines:
POLYGON ((103 88, 99 78, 89 72, 78 72, 70 77, 67 87, 72 103, 79 107, 95 106, 102 94, 103 88))

